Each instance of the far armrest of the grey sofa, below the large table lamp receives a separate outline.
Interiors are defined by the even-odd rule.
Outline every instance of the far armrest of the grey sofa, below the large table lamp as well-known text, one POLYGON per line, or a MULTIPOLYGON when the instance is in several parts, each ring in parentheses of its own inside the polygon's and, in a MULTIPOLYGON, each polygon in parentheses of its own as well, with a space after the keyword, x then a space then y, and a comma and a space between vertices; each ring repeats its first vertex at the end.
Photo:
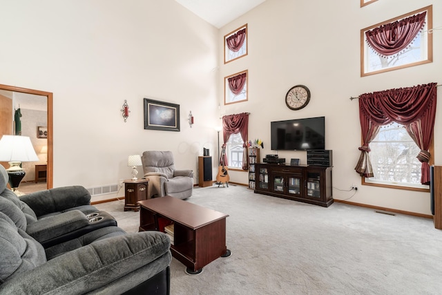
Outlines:
POLYGON ((38 217, 48 213, 89 205, 90 193, 81 186, 57 187, 55 189, 29 193, 21 196, 20 200, 26 202, 38 217))

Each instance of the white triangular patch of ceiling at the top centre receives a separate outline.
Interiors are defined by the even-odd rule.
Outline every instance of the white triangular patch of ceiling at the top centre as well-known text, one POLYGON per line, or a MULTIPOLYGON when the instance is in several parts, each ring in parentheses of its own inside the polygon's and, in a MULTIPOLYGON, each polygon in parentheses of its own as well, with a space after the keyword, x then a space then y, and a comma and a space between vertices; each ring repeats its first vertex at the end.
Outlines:
POLYGON ((175 0, 216 28, 237 19, 265 0, 175 0))

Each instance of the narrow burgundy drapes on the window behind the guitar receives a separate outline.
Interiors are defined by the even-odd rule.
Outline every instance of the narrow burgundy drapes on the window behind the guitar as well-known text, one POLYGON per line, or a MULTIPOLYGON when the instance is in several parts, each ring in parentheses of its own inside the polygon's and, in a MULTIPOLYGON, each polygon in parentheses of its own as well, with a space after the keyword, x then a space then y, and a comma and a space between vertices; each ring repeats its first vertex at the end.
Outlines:
MULTIPOLYGON (((229 141, 229 137, 232 134, 240 133, 242 141, 242 169, 248 169, 248 158, 247 158, 247 135, 249 132, 249 113, 240 113, 236 115, 225 115, 222 117, 222 137, 224 139, 224 144, 222 144, 222 149, 226 148, 226 142, 229 141)), ((221 155, 220 165, 224 164, 227 166, 227 155, 221 155)))

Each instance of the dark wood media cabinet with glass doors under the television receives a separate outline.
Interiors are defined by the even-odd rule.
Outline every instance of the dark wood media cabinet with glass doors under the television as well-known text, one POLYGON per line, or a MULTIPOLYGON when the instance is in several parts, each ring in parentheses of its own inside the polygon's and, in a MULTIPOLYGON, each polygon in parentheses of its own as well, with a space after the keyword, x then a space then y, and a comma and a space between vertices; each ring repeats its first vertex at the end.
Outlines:
POLYGON ((256 164, 255 193, 329 207, 332 167, 256 164))

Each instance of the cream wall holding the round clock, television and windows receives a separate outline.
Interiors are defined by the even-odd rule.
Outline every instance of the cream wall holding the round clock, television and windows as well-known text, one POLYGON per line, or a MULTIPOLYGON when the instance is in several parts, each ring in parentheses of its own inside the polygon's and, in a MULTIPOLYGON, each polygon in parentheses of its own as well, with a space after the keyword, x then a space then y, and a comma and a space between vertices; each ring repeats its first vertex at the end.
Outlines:
MULTIPOLYGON (((360 152, 361 129, 358 101, 349 97, 391 88, 438 82, 442 84, 442 30, 434 31, 434 61, 389 73, 361 77, 361 29, 407 12, 433 5, 434 28, 441 26, 442 3, 430 0, 380 0, 364 8, 359 1, 267 0, 246 15, 220 29, 222 37, 248 24, 249 55, 220 66, 220 85, 224 77, 249 70, 249 101, 223 106, 220 115, 248 111, 249 138, 260 138, 270 150, 270 122, 303 117, 325 116, 326 149, 333 150, 333 196, 345 200, 352 184, 361 183, 354 171, 360 152), (311 91, 306 108, 291 111, 285 106, 285 94, 296 84, 311 91)), ((222 52, 222 51, 221 51, 222 52)), ((442 95, 441 88, 438 94, 442 95)), ((218 93, 222 103, 223 89, 218 93)), ((442 106, 439 104, 434 131, 435 163, 442 163, 438 153, 442 144, 442 106)), ((300 158, 305 152, 279 151, 281 158, 300 158)), ((247 183, 247 173, 230 172, 231 181, 247 183)), ((349 201, 379 207, 430 214, 429 193, 383 189, 359 185, 349 201)))

